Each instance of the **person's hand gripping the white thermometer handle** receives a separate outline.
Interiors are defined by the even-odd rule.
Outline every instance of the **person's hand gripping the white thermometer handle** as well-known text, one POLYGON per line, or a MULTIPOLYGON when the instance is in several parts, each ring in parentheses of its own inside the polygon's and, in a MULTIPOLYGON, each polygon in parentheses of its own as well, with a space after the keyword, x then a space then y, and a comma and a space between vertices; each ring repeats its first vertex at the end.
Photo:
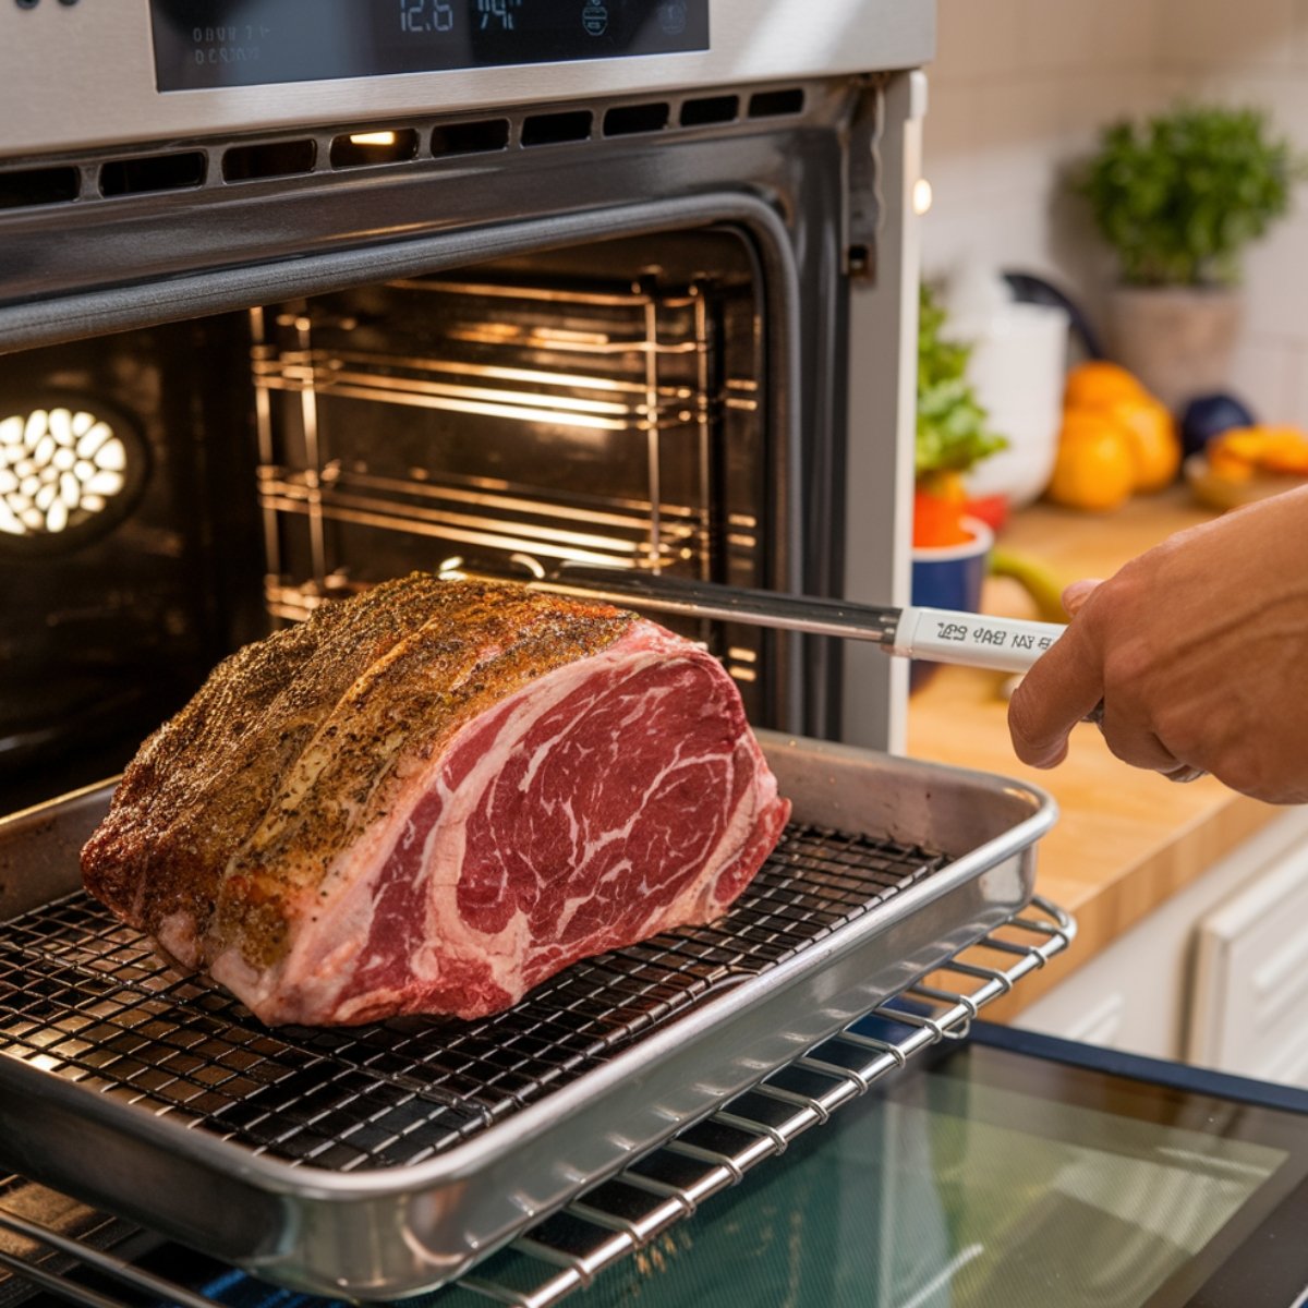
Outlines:
POLYGON ((1182 531, 1063 603, 1066 633, 1008 705, 1019 759, 1056 766, 1103 701, 1129 764, 1308 802, 1308 488, 1182 531))

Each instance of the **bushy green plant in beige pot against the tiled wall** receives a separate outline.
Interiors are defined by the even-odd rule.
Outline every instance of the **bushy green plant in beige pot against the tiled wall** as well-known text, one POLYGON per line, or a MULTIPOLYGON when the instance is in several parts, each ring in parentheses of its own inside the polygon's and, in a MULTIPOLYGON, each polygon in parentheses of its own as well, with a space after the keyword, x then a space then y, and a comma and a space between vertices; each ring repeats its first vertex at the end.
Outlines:
POLYGON ((1226 388, 1241 256, 1303 175, 1253 109, 1185 105, 1101 132, 1076 188, 1120 267, 1112 351, 1169 408, 1226 388))

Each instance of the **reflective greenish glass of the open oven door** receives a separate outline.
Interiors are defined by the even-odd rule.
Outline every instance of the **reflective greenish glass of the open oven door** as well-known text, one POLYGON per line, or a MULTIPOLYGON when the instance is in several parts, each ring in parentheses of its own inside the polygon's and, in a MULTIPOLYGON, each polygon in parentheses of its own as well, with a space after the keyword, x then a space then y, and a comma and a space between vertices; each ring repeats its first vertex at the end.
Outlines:
POLYGON ((586 1304, 1303 1301, 1305 1116, 969 1042, 842 1117, 586 1304))

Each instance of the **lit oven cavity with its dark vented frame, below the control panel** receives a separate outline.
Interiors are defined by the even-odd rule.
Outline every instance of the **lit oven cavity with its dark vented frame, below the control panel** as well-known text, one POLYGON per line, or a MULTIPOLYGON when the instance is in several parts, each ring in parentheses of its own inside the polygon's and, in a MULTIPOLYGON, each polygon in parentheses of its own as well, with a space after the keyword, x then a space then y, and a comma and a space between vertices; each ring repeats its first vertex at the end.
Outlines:
MULTIPOLYGON (((880 97, 633 86, 0 162, 5 807, 413 569, 836 593, 840 242, 879 212, 850 124, 880 97)), ((667 625, 755 725, 832 734, 823 642, 667 625)))

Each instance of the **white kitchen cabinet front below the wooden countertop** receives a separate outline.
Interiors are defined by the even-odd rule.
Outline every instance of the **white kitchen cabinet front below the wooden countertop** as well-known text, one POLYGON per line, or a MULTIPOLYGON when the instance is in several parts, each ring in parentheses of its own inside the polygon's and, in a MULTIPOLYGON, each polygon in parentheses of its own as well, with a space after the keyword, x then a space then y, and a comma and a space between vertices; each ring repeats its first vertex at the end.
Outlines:
POLYGON ((1015 1025, 1292 1080, 1308 1075, 1303 1001, 1308 808, 1288 808, 1023 1010, 1015 1025))

